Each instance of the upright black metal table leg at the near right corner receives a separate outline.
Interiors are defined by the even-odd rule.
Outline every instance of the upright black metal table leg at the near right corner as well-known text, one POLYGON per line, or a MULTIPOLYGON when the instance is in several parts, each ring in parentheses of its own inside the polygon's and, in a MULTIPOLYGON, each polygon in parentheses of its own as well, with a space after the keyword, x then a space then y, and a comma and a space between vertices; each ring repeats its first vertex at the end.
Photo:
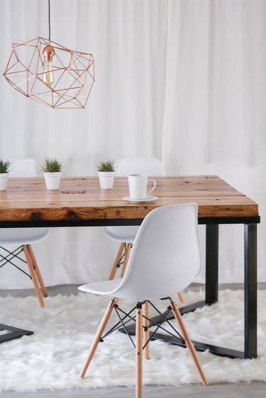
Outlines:
POLYGON ((257 357, 257 224, 245 224, 245 358, 257 357))

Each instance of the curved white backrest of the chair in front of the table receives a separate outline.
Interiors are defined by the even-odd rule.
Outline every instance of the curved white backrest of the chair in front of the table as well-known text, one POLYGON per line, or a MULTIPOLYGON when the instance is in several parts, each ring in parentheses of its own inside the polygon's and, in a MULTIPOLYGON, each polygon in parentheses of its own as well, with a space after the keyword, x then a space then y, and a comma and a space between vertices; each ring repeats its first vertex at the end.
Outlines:
POLYGON ((113 295, 160 299, 181 292, 201 268, 196 203, 158 207, 138 230, 123 282, 113 295))

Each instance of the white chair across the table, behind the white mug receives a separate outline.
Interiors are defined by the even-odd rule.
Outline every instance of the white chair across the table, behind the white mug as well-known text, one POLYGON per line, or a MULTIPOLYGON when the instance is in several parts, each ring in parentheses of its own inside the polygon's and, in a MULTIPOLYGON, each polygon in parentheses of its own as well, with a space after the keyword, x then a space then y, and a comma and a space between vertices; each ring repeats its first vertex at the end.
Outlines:
MULTIPOLYGON (((161 162, 155 157, 123 157, 118 159, 116 162, 116 176, 128 176, 129 174, 165 176, 165 171, 161 162)), ((105 233, 109 238, 121 242, 116 259, 111 268, 109 280, 115 277, 116 271, 120 268, 122 263, 123 267, 120 277, 123 278, 138 229, 139 226, 135 225, 128 227, 104 227, 105 233)), ((178 293, 178 297, 179 301, 184 303, 184 297, 181 292, 178 293)))

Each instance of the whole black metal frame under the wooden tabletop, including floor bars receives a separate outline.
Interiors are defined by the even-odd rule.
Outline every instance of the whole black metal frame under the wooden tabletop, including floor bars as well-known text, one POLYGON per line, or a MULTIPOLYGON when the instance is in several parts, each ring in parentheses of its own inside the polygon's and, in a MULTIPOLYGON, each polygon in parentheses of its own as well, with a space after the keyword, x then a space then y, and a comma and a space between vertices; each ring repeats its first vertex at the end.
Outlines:
MULTIPOLYGON (((117 220, 77 220, 72 212, 69 220, 41 220, 33 215, 31 221, 0 222, 0 227, 99 227, 106 225, 139 225, 141 219, 117 220)), ((196 302, 180 309, 182 314, 194 311, 204 305, 212 305, 218 301, 218 225, 244 224, 244 351, 235 351, 229 348, 212 346, 211 344, 194 341, 199 351, 207 348, 212 353, 229 358, 256 358, 257 357, 257 224, 260 217, 204 217, 199 218, 199 224, 206 224, 206 292, 205 300, 196 302)), ((6 326, 6 325, 3 325, 6 326)), ((6 326, 8 328, 9 326, 6 326)), ((10 326, 11 327, 11 326, 10 326)), ((1 324, 0 324, 1 329, 1 324)), ((5 329, 5 328, 4 328, 5 329)), ((11 329, 14 329, 11 327, 11 329)), ((26 332, 26 331, 24 331, 26 332)), ((132 334, 135 332, 131 330, 132 334)), ((22 333, 22 331, 21 331, 22 333)), ((32 332, 29 332, 30 334, 32 332)), ((25 333, 24 333, 25 334, 25 333)), ((21 334, 22 336, 23 334, 21 334)), ((2 335, 2 338, 4 339, 2 335)), ((19 336, 16 336, 16 338, 19 336)), ((14 337, 15 338, 15 337, 14 337)), ((172 336, 155 334, 155 339, 162 339, 172 344, 184 346, 182 341, 172 336)))

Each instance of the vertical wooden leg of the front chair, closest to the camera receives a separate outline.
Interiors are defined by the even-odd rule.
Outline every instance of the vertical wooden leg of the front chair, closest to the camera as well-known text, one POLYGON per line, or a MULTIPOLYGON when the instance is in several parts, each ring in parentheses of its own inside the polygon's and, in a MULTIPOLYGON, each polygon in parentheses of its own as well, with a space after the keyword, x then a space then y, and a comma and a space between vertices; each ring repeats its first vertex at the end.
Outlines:
POLYGON ((143 311, 136 309, 135 317, 135 398, 143 396, 143 311))

